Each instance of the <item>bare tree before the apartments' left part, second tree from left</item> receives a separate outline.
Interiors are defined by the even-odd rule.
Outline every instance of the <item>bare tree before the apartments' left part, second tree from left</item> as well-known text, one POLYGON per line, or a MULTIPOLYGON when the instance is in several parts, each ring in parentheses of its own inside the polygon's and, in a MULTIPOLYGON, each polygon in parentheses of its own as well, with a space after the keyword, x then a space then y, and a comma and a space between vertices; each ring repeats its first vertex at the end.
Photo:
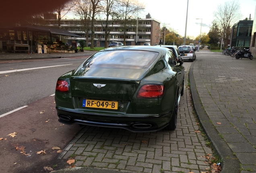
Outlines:
MULTIPOLYGON (((91 0, 76 0, 74 5, 74 14, 80 18, 80 24, 85 32, 86 46, 88 46, 89 30, 91 29, 91 0)), ((93 44, 93 42, 91 43, 93 44)))

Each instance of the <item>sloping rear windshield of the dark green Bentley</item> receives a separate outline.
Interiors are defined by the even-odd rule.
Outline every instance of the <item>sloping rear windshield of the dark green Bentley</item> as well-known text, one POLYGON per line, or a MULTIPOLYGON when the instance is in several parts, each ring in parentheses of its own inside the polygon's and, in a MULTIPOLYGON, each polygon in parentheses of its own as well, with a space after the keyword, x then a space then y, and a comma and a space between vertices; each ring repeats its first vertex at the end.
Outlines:
POLYGON ((109 50, 97 52, 83 66, 137 66, 148 68, 158 56, 158 52, 142 50, 109 50))

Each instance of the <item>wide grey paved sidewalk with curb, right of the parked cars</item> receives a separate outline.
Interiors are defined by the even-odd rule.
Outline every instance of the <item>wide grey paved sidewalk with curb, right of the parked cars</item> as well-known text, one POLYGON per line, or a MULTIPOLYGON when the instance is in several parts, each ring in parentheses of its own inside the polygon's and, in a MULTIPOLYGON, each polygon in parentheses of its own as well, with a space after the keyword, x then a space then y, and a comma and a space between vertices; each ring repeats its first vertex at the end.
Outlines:
POLYGON ((194 107, 223 159, 223 173, 256 173, 255 67, 255 59, 203 50, 191 66, 194 107))

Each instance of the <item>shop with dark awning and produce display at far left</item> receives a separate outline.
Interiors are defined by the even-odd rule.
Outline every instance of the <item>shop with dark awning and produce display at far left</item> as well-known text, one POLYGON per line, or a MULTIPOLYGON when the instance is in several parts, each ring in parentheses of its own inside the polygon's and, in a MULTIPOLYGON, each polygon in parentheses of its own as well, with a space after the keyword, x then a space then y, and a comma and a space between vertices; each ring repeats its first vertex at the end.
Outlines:
MULTIPOLYGON (((38 52, 42 48, 52 47, 51 50, 72 50, 66 44, 66 37, 80 37, 72 32, 59 28, 45 26, 16 26, 0 28, 0 50, 5 52, 38 52)), ((44 50, 44 49, 42 49, 44 50)))

